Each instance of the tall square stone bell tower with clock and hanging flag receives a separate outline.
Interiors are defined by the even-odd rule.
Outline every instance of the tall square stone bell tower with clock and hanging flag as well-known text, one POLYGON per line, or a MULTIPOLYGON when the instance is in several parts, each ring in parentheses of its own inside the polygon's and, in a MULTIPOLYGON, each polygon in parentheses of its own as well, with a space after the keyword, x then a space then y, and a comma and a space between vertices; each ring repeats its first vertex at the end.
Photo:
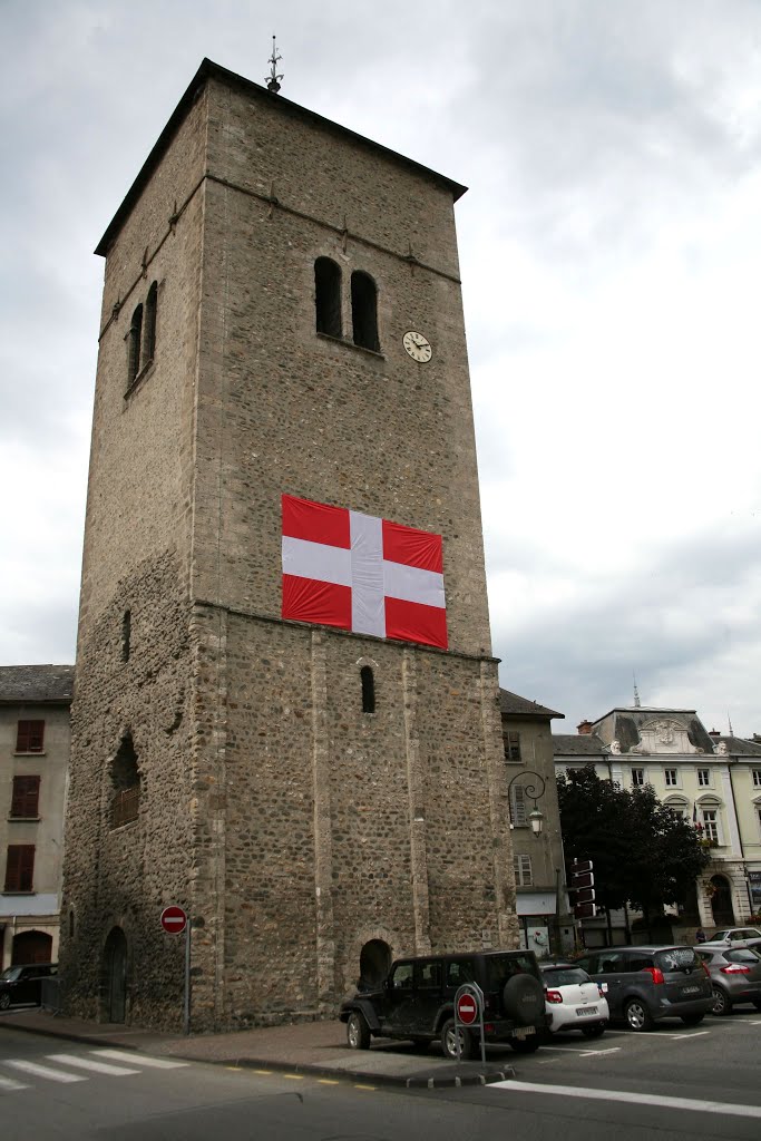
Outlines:
POLYGON ((517 944, 463 189, 204 60, 97 248, 74 1012, 179 1025, 169 904, 195 1029, 517 944))

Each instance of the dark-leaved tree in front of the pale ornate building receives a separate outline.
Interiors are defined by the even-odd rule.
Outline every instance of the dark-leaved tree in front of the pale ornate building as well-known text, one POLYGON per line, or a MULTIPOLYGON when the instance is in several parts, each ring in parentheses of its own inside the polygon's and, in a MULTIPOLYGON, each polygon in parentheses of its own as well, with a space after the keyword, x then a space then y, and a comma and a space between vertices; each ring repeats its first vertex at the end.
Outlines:
POLYGON ((665 904, 685 903, 711 859, 649 785, 621 788, 588 766, 558 777, 558 803, 566 857, 593 861, 596 903, 607 912, 630 904, 649 923, 665 904))

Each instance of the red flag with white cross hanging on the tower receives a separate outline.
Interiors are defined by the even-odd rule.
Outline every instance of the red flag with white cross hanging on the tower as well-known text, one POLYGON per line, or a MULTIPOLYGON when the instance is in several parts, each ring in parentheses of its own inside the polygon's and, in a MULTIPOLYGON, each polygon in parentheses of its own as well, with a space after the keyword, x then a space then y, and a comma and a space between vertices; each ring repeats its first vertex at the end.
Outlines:
POLYGON ((442 536, 283 495, 283 617, 446 649, 442 536))

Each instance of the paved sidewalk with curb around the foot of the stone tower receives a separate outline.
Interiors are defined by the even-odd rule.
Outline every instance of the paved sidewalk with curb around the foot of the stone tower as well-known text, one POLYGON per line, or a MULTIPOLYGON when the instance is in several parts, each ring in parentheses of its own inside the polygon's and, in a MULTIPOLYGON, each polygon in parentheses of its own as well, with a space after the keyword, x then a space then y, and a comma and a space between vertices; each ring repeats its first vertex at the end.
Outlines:
POLYGON ((0 1015, 0 1029, 3 1026, 90 1045, 139 1050, 153 1055, 163 1054, 189 1061, 309 1073, 408 1089, 487 1085, 515 1076, 507 1046, 489 1047, 485 1066, 480 1060, 448 1061, 440 1055, 435 1043, 430 1047, 430 1055, 421 1054, 405 1042, 382 1042, 373 1044, 370 1050, 349 1050, 346 1028, 338 1019, 185 1037, 114 1022, 90 1022, 52 1014, 39 1008, 26 1008, 0 1015))

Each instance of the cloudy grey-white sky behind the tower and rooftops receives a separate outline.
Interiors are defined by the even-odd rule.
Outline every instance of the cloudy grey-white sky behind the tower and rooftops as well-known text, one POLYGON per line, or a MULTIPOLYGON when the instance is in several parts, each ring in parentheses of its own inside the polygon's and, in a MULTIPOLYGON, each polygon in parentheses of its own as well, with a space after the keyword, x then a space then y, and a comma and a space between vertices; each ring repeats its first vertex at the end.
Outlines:
POLYGON ((0 0, 0 663, 72 662, 104 264, 204 56, 470 187, 501 682, 761 731, 761 0, 0 0))

